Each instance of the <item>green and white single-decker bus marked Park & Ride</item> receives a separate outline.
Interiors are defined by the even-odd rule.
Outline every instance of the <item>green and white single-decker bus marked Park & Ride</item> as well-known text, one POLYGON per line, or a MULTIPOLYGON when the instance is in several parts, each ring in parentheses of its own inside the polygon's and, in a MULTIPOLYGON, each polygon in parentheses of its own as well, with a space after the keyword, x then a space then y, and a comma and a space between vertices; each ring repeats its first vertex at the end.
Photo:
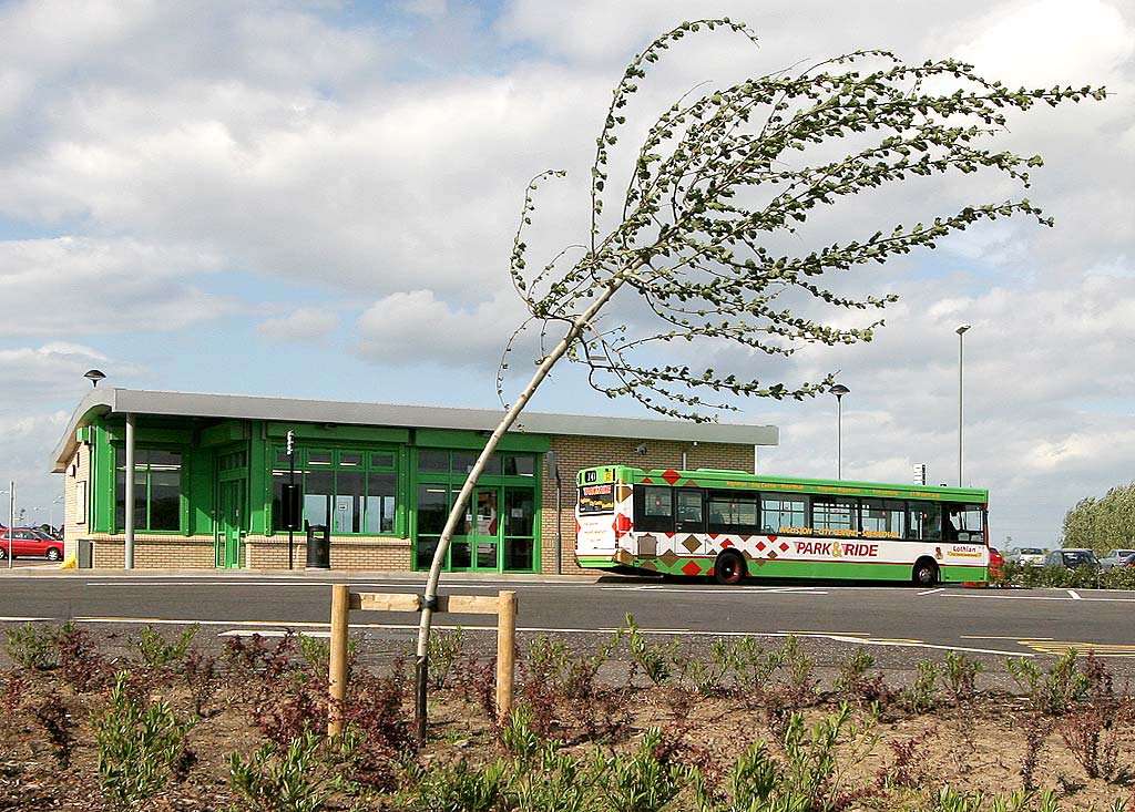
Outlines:
POLYGON ((585 468, 577 484, 580 567, 720 584, 989 581, 985 490, 627 465, 585 468))

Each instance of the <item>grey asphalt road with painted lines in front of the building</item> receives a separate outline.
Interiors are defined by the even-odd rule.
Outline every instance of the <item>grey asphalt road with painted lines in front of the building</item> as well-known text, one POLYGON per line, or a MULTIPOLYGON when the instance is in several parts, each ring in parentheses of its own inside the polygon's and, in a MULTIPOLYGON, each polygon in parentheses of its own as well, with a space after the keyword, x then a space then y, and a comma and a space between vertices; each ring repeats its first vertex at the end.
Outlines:
MULTIPOLYGON (((330 584, 356 592, 421 592, 421 576, 348 577, 344 574, 49 574, 0 573, 0 624, 78 623, 129 634, 144 624, 201 623, 205 636, 279 634, 285 628, 326 634, 330 584)), ((468 580, 447 576, 444 594, 518 593, 522 637, 549 634, 595 643, 633 615, 655 635, 705 645, 712 637, 758 635, 768 646, 789 634, 807 641, 823 665, 854 646, 868 646, 883 665, 909 669, 948 650, 1003 661, 1007 655, 1049 658, 1069 646, 1108 659, 1117 676, 1135 676, 1135 592, 1093 590, 919 590, 888 585, 750 585, 658 583, 603 578, 468 580)), ((364 637, 404 645, 414 614, 353 612, 364 637)), ((491 616, 436 617, 489 632, 491 616)))

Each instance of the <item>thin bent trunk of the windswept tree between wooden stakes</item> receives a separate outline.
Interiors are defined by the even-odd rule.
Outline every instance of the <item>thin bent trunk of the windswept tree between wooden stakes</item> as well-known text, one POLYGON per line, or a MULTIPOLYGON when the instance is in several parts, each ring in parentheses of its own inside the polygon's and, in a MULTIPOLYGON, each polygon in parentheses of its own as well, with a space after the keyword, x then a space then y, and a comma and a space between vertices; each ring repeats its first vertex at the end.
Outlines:
POLYGON ((591 306, 587 308, 580 316, 572 322, 571 328, 564 338, 548 353, 547 357, 536 370, 536 374, 532 375, 532 380, 528 382, 524 390, 516 398, 516 403, 513 404, 504 417, 502 417, 501 423, 497 425, 496 430, 489 437, 488 442, 485 443, 485 449, 481 455, 477 458, 477 463, 473 465, 472 471, 465 477, 465 484, 462 485, 461 492, 453 502, 453 508, 449 510, 449 517, 446 519, 445 528, 442 531, 442 538, 438 541, 437 549, 434 551, 434 563, 430 565, 429 577, 426 580, 426 594, 422 601, 421 620, 418 627, 418 650, 414 658, 414 680, 415 680, 415 708, 414 717, 418 726, 418 741, 419 743, 426 742, 426 721, 427 721, 427 678, 428 678, 428 662, 427 654, 429 651, 429 633, 430 623, 434 617, 434 609, 437 606, 437 585, 438 581, 442 578, 442 567, 445 564, 445 556, 449 550, 449 541, 453 539, 453 533, 457 528, 457 523, 461 521, 464 514, 465 506, 469 504, 469 499, 472 496, 473 487, 477 484, 478 477, 481 472, 485 471, 485 466, 488 465, 489 457, 496 451, 497 446, 501 443, 501 439, 505 435, 508 429, 512 428, 516 418, 520 417, 520 413, 528 405, 528 401, 532 398, 536 392, 537 387, 540 382, 547 378, 552 367, 556 364, 560 358, 564 356, 568 348, 579 338, 583 332, 583 329, 591 322, 595 315, 603 308, 603 306, 614 296, 615 291, 622 287, 623 282, 627 280, 628 274, 631 271, 624 271, 619 273, 607 282, 606 288, 604 288, 603 294, 591 303, 591 306))

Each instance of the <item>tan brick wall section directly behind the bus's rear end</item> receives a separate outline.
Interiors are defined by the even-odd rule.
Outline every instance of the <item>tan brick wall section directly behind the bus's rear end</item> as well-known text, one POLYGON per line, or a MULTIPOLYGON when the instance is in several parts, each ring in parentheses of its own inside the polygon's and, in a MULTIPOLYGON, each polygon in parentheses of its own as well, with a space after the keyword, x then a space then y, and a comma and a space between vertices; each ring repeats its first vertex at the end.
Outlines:
MULTIPOLYGON (((688 470, 728 468, 753 472, 754 463, 753 446, 721 442, 699 442, 695 446, 684 441, 560 435, 552 439, 552 450, 556 452, 560 466, 561 572, 568 575, 585 572, 575 566, 575 474, 580 468, 620 463, 640 468, 681 468, 683 451, 688 470), (647 452, 639 455, 636 448, 644 443, 647 452)), ((540 570, 555 574, 556 483, 548 479, 547 471, 544 476, 540 570)))

